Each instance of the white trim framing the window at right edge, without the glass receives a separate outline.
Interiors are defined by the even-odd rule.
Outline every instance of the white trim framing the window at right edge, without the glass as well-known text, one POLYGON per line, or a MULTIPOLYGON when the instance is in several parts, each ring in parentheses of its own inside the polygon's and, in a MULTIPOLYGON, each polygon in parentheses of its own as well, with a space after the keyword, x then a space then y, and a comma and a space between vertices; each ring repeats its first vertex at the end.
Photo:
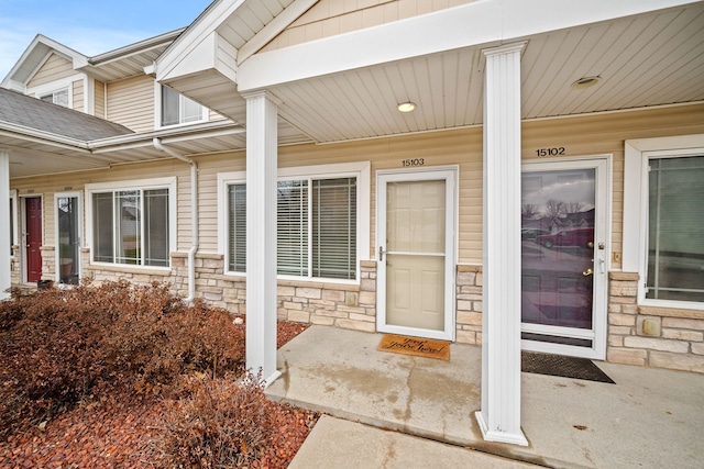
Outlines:
POLYGON ((638 272, 638 304, 704 310, 704 302, 646 299, 648 270, 648 160, 653 156, 704 154, 704 134, 626 141, 624 165, 623 270, 638 272))

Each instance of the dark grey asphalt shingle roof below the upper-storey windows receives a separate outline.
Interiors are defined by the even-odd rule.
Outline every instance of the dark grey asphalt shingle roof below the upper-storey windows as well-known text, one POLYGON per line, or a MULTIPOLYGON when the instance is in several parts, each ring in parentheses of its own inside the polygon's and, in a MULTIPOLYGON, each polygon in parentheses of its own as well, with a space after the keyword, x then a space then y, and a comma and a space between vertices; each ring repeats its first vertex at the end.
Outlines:
POLYGON ((2 122, 86 142, 134 133, 124 125, 4 88, 0 88, 0 126, 2 122))

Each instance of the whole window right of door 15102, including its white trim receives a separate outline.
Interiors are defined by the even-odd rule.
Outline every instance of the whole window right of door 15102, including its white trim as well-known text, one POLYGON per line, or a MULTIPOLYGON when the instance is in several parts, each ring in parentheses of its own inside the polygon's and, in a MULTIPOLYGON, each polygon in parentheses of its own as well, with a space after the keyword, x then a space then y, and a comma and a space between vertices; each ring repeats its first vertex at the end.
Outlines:
POLYGON ((704 134, 626 141, 623 264, 638 303, 704 310, 704 134))

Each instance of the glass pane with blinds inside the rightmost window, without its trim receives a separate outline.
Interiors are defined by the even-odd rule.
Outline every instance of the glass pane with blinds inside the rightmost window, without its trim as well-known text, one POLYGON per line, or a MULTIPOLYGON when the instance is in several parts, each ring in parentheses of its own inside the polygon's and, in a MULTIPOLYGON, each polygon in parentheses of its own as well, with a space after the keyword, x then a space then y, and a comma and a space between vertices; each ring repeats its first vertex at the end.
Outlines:
POLYGON ((704 302, 704 156, 651 158, 646 298, 704 302))

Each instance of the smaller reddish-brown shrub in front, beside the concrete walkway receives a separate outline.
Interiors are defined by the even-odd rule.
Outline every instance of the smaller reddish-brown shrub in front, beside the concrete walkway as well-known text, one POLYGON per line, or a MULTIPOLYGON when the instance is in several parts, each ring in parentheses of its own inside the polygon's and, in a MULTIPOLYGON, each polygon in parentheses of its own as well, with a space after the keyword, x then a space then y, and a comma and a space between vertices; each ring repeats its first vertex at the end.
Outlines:
POLYGON ((188 378, 191 394, 175 401, 163 435, 164 468, 250 466, 276 434, 261 377, 188 378))

